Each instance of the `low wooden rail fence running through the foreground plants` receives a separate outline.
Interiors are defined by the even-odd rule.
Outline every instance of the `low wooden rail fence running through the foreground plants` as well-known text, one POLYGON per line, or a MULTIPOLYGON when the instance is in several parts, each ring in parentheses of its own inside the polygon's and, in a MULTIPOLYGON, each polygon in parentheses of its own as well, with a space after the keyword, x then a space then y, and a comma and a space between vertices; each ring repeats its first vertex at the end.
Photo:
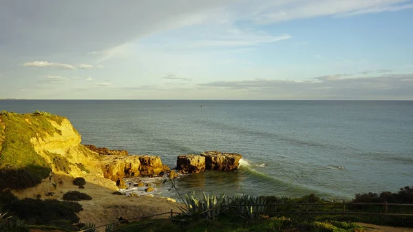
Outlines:
MULTIPOLYGON (((274 210, 273 211, 265 211, 265 213, 268 214, 274 214, 274 215, 288 215, 288 214, 324 214, 324 215, 342 215, 343 217, 345 215, 380 215, 380 216, 394 216, 394 217, 413 217, 413 204, 398 204, 398 203, 388 203, 388 202, 384 202, 384 203, 354 203, 354 202, 332 202, 332 203, 294 203, 294 204, 277 204, 277 203, 273 203, 273 204, 237 204, 237 205, 222 205, 221 207, 272 207, 274 210), (297 211, 282 211, 282 210, 277 210, 277 207, 301 207, 301 206, 305 206, 306 209, 298 209, 297 211), (317 207, 317 206, 337 206, 340 207, 340 210, 338 211, 312 211, 312 207, 317 207), (365 206, 365 207, 371 207, 371 206, 382 206, 382 212, 366 212, 366 211, 349 211, 348 210, 348 206, 365 206), (412 213, 389 213, 389 207, 412 207, 411 211, 412 213)), ((317 208, 315 208, 317 209, 317 208)), ((337 208, 338 209, 338 208, 337 208)), ((209 209, 208 211, 213 211, 215 209, 209 209)), ((208 211, 205 211, 203 213, 207 213, 208 211)), ((241 212, 239 211, 223 211, 220 214, 240 214, 241 212)), ((129 223, 131 221, 138 221, 138 220, 143 220, 143 219, 148 219, 148 218, 154 218, 157 216, 162 216, 162 215, 169 215, 169 219, 173 219, 174 215, 182 215, 183 213, 178 213, 178 212, 174 212, 172 209, 169 212, 165 212, 165 213, 157 213, 157 214, 153 214, 153 215, 145 215, 145 216, 141 216, 138 218, 130 218, 130 219, 125 219, 125 220, 120 220, 118 222, 113 222, 113 223, 109 223, 109 224, 104 224, 101 226, 96 226, 93 229, 84 229, 82 231, 79 232, 90 232, 90 231, 95 231, 96 229, 100 229, 100 228, 107 228, 107 226, 116 226, 119 224, 123 224, 123 223, 129 223)), ((138 227, 138 226, 147 226, 150 224, 156 224, 158 222, 162 222, 164 221, 166 218, 162 218, 160 220, 156 220, 156 221, 151 221, 151 222, 145 222, 142 224, 133 224, 131 226, 122 226, 120 228, 113 228, 113 229, 107 229, 106 231, 108 232, 112 232, 112 231, 120 231, 123 229, 131 229, 134 227, 138 227)))

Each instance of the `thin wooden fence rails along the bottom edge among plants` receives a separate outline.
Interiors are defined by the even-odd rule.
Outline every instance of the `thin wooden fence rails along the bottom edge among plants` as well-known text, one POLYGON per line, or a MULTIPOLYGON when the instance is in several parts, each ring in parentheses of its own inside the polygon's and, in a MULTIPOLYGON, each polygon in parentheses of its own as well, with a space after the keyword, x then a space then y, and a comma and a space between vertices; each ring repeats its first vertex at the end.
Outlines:
MULTIPOLYGON (((224 205, 226 207, 229 207, 229 205, 224 205)), ((384 203, 356 203, 356 202, 331 202, 331 203, 293 203, 293 204, 286 204, 286 203, 281 203, 281 204, 277 204, 277 203, 273 203, 273 204, 237 204, 234 205, 233 207, 239 207, 239 206, 248 206, 248 207, 275 207, 275 211, 265 211, 265 213, 274 213, 274 214, 329 214, 329 215, 380 215, 380 216, 401 216, 401 217, 413 217, 413 213, 388 213, 388 207, 389 206, 399 206, 399 207, 413 207, 413 204, 399 204, 399 203, 388 203, 388 202, 384 202, 384 203), (294 206, 332 206, 332 205, 337 205, 337 206, 343 206, 341 211, 306 211, 306 210, 302 210, 301 211, 277 211, 277 207, 283 207, 283 206, 287 206, 287 207, 294 207, 294 206), (363 211, 348 211, 348 209, 346 209, 346 206, 348 205, 360 205, 360 206, 383 206, 383 210, 384 213, 370 213, 370 212, 363 212, 363 211)), ((212 211, 213 209, 210 209, 209 211, 212 211)), ((412 209, 413 210, 413 209, 412 209)), ((207 212, 207 211, 206 211, 207 212)), ((204 212, 204 213, 206 213, 204 212)), ((222 212, 220 214, 239 214, 240 212, 222 212)), ((113 222, 113 223, 109 223, 109 224, 104 224, 101 226, 96 226, 95 228, 102 228, 104 226, 109 226, 109 225, 113 225, 113 224, 121 224, 123 222, 130 222, 133 220, 142 220, 142 219, 146 219, 146 218, 153 218, 153 217, 157 217, 160 215, 168 215, 170 218, 173 218, 173 215, 182 215, 182 213, 178 213, 178 212, 174 212, 172 209, 169 212, 166 213, 157 213, 157 214, 153 214, 153 215, 146 215, 146 216, 141 216, 138 218, 130 218, 130 219, 126 219, 126 220, 121 220, 118 222, 113 222)), ((164 220, 164 219, 162 219, 164 220)), ((118 231, 120 229, 129 229, 132 227, 136 227, 136 226, 146 226, 148 224, 155 224, 158 223, 162 220, 158 220, 155 222, 147 222, 147 223, 143 223, 143 224, 138 224, 138 225, 132 225, 132 226, 127 226, 127 227, 121 227, 118 229, 113 229, 111 231, 118 231)), ((82 231, 78 231, 78 232, 87 232, 87 231, 92 231, 92 229, 85 229, 82 231)))

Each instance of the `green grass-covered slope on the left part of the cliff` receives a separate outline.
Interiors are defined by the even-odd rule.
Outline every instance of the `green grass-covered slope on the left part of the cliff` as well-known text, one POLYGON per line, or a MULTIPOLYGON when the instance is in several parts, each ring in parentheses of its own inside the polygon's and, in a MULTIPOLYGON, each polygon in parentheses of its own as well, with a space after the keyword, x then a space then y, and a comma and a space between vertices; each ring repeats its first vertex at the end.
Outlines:
POLYGON ((0 189, 35 186, 50 173, 50 165, 36 153, 31 138, 61 134, 51 123, 65 118, 47 112, 0 113, 0 189))

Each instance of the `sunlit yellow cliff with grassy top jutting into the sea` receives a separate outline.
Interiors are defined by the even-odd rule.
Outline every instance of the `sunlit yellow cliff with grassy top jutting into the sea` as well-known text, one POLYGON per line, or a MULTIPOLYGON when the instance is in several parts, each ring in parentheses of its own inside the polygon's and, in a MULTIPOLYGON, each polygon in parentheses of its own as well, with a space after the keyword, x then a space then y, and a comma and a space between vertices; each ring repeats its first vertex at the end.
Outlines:
POLYGON ((46 112, 2 112, 0 190, 34 187, 51 173, 82 176, 87 182, 117 190, 123 177, 153 176, 169 170, 158 156, 127 156, 127 151, 88 147, 94 151, 81 145, 81 135, 65 117, 46 112))

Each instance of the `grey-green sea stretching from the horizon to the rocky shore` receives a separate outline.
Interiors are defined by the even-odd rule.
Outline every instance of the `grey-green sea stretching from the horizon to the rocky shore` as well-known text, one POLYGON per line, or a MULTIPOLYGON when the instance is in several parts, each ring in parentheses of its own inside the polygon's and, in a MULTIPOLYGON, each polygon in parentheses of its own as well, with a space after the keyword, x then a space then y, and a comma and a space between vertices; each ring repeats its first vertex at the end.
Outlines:
MULTIPOLYGON (((349 199, 413 185, 413 101, 2 100, 0 110, 66 116, 83 144, 160 156, 169 167, 179 154, 244 156, 235 172, 180 176, 181 193, 349 199)), ((178 198, 162 180, 130 182, 178 198)))

